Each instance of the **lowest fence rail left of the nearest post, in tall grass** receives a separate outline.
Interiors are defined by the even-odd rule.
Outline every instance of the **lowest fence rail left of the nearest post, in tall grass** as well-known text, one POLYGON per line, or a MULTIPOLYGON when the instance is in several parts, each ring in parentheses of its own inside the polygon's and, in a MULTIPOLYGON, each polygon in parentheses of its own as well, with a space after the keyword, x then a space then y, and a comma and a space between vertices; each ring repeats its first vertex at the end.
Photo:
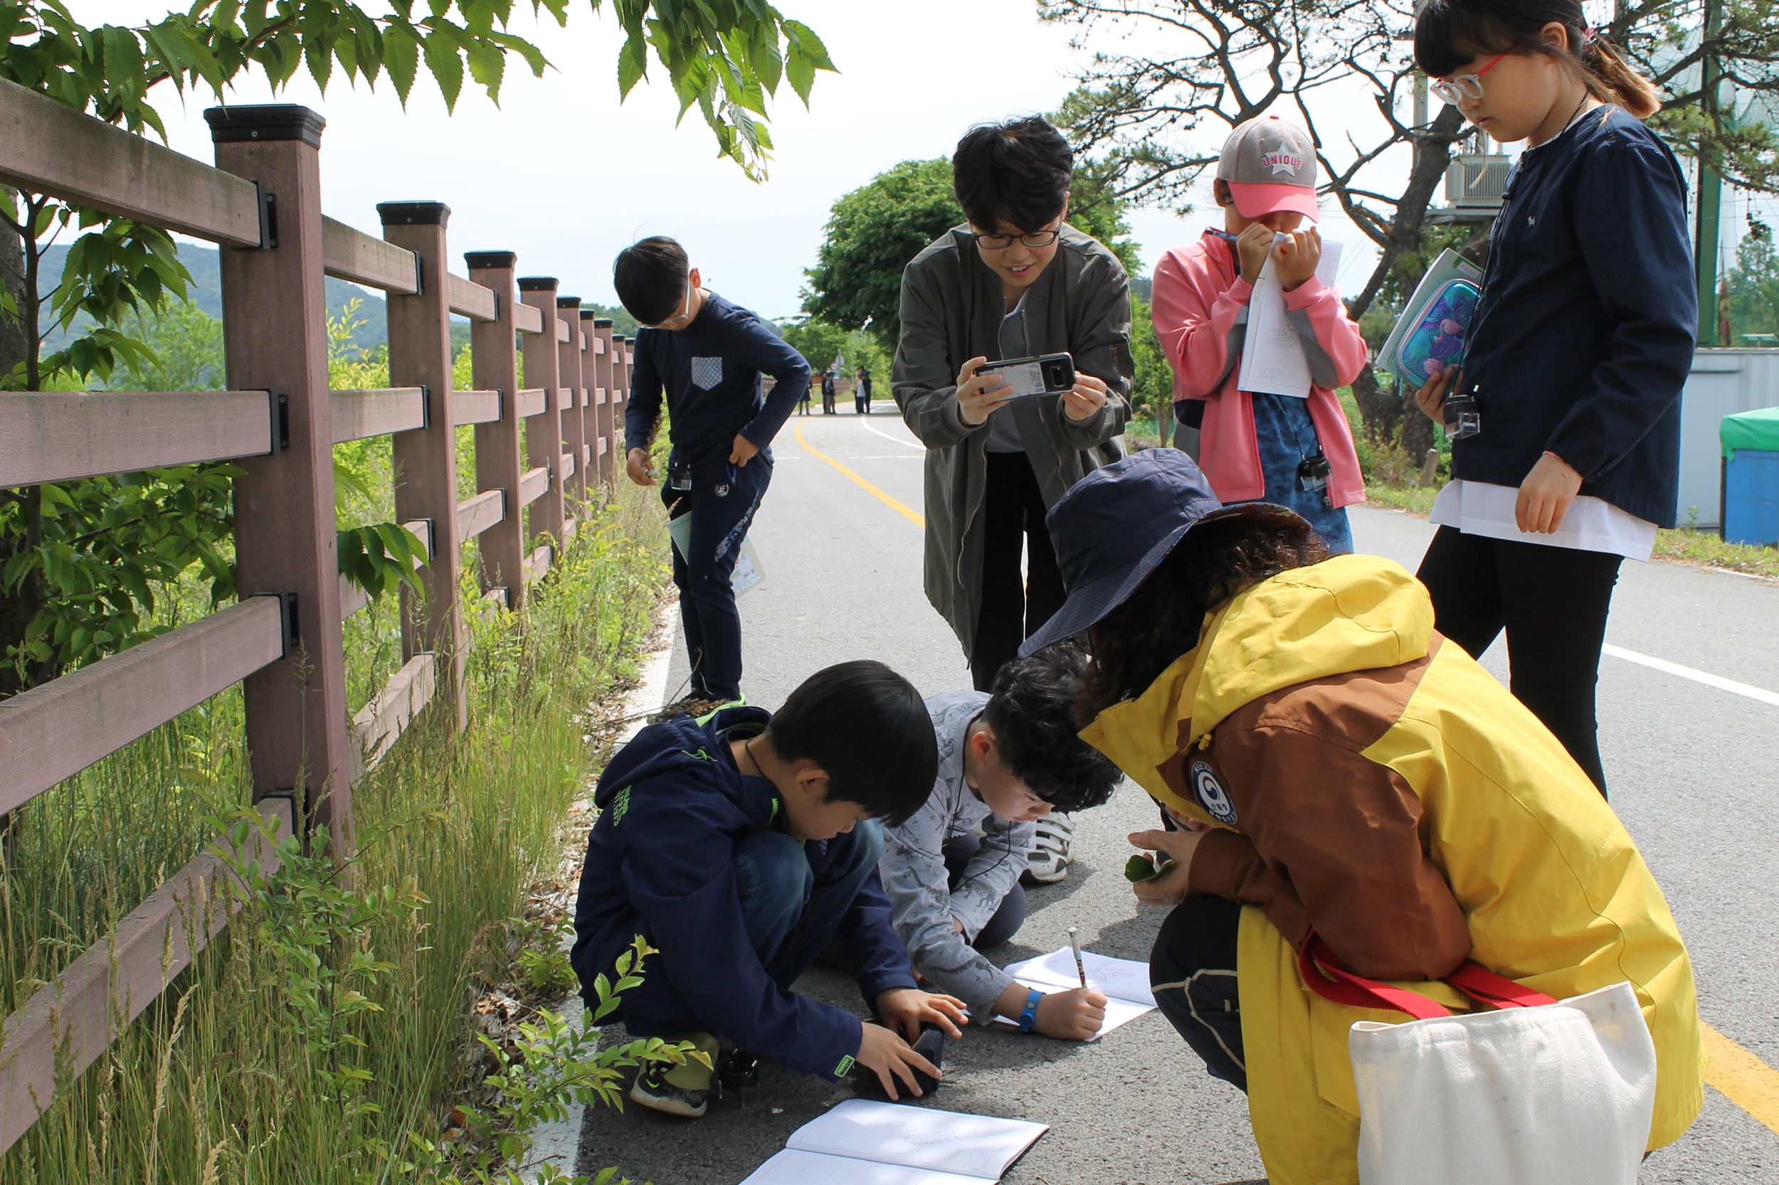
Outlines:
MULTIPOLYGON (((262 799, 260 815, 278 820, 278 838, 290 834, 290 799, 262 799)), ((258 831, 235 858, 258 861, 267 872, 279 867, 278 850, 258 831)), ((50 1107, 59 1075, 73 1076, 96 1062, 117 1032, 160 998, 228 923, 224 877, 233 881, 233 872, 221 856, 197 856, 132 909, 110 938, 100 939, 5 1018, 0 1027, 0 1153, 50 1107)))

